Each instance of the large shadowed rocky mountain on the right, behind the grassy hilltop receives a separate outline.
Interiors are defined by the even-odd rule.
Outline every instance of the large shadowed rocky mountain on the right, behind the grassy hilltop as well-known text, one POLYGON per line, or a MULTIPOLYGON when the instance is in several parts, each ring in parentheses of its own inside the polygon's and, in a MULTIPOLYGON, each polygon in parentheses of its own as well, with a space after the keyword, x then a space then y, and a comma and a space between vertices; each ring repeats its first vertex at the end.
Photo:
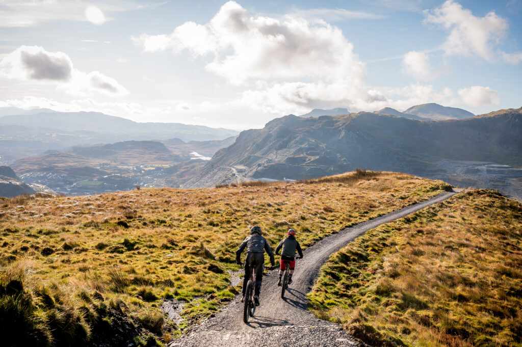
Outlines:
POLYGON ((184 187, 210 187, 238 178, 301 179, 355 167, 434 176, 443 160, 522 165, 522 109, 467 119, 423 122, 355 113, 274 119, 243 131, 184 187))

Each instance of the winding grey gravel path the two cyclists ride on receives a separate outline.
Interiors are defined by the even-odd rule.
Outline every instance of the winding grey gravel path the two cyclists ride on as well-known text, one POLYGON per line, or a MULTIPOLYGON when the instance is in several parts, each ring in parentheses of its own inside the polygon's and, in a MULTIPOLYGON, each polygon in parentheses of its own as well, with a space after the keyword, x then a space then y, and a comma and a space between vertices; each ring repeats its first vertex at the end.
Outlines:
MULTIPOLYGON (((259 297, 261 306, 248 325, 243 322, 243 304, 236 296, 215 317, 192 328, 185 336, 174 340, 174 346, 358 346, 339 325, 315 318, 307 310, 308 293, 319 275, 319 270, 330 254, 352 242, 356 237, 378 225, 407 216, 426 206, 452 197, 448 192, 436 197, 385 214, 381 217, 353 225, 330 235, 304 250, 304 257, 296 261, 293 283, 286 298, 281 299, 277 286, 277 270, 263 278, 263 288, 259 297)), ((277 261, 276 261, 277 263, 277 261)))

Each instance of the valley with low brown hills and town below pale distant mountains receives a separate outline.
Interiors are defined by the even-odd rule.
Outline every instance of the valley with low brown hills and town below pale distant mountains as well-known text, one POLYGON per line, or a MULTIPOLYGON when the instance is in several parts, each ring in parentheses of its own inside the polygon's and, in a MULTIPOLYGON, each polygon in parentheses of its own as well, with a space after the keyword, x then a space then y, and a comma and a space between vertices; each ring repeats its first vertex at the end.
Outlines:
POLYGON ((92 194, 140 186, 177 187, 200 172, 205 161, 219 148, 230 145, 235 137, 224 140, 123 141, 108 145, 74 146, 46 155, 20 159, 11 165, 29 184, 51 187, 58 193, 92 194))

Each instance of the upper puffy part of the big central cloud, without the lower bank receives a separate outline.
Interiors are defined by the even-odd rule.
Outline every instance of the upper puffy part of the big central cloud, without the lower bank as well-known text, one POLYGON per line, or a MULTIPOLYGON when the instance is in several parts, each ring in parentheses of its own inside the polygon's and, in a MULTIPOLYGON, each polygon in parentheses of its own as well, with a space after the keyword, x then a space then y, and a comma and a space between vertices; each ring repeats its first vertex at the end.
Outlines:
POLYGON ((170 35, 134 39, 145 51, 212 54, 207 70, 234 84, 252 79, 364 78, 364 64, 339 28, 290 15, 250 17, 229 1, 206 25, 186 22, 170 35))

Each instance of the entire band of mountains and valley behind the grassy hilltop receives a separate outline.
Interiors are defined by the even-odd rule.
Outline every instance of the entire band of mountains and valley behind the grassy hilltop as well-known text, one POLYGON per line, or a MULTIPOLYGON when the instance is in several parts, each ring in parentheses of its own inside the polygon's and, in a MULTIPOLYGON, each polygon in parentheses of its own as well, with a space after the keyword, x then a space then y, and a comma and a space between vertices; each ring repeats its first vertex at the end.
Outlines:
MULTIPOLYGON (((479 116, 433 103, 404 112, 390 107, 358 113, 315 109, 302 116, 274 119, 263 129, 245 130, 239 136, 188 142, 186 137, 171 136, 179 133, 153 131, 173 124, 46 111, 0 117, 0 134, 13 131, 31 139, 0 135, 0 155, 4 156, 6 148, 22 148, 18 155, 28 155, 11 160, 15 172, 26 183, 47 185, 58 193, 89 194, 136 184, 191 188, 250 180, 299 180, 362 167, 407 172, 455 185, 493 187, 522 197, 522 170, 505 166, 522 165, 520 109, 479 116), (433 121, 428 117, 454 119, 433 121), (33 127, 27 126, 31 122, 33 127), (89 122, 97 124, 98 132, 85 128, 89 122), (45 128, 45 124, 62 129, 45 128), (161 134, 164 138, 158 140, 161 134), (134 140, 133 136, 151 138, 134 140), (115 142, 118 137, 125 140, 115 142), (59 149, 49 149, 57 143, 59 149), (34 152, 38 154, 31 154, 34 152)), ((226 129, 203 128, 228 134, 226 129)))

